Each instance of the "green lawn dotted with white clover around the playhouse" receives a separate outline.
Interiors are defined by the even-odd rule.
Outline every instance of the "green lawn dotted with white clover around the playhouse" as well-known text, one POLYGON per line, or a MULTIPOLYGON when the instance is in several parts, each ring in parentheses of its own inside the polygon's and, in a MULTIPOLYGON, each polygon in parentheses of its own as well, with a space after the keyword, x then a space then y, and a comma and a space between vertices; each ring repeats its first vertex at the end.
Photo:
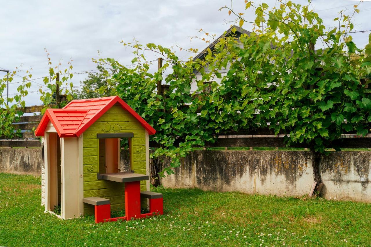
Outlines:
POLYGON ((164 215, 94 224, 40 206, 40 177, 0 173, 0 246, 368 246, 371 204, 155 189, 164 215))

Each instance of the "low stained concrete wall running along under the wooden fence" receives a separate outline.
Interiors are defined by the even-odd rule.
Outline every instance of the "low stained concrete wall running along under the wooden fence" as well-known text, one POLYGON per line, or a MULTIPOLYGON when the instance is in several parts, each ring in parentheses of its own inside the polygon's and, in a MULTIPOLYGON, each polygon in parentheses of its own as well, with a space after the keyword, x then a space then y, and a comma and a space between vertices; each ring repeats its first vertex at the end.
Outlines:
MULTIPOLYGON (((121 171, 130 170, 121 151, 121 171)), ((169 161, 164 162, 167 166, 169 161)), ((321 157, 323 196, 371 202, 371 152, 332 152, 321 157)), ((0 149, 0 172, 42 175, 40 149, 0 149)), ((240 191, 247 194, 301 196, 313 183, 308 151, 194 151, 175 174, 161 179, 165 187, 240 191)), ((45 184, 42 181, 42 193, 45 184)))

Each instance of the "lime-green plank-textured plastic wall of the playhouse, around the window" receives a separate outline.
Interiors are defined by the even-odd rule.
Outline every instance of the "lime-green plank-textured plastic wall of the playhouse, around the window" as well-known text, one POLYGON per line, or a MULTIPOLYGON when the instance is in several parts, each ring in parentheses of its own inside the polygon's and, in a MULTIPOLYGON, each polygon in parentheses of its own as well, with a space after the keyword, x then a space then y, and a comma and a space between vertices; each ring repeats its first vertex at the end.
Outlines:
MULTIPOLYGON (((83 133, 84 197, 103 197, 111 200, 111 211, 125 209, 125 187, 123 183, 98 180, 99 133, 132 132, 130 158, 135 173, 146 174, 145 129, 119 105, 112 106, 104 115, 83 133)), ((141 191, 147 190, 146 181, 141 181, 141 191)), ((145 200, 142 206, 145 205, 145 200)), ((94 206, 84 204, 84 215, 94 214, 94 206)))

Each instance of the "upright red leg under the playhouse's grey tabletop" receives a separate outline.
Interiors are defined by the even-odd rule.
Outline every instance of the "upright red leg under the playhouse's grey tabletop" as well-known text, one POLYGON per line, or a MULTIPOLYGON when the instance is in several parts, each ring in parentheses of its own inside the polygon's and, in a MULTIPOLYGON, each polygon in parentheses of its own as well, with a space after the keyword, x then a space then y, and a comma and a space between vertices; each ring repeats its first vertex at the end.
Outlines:
POLYGON ((125 216, 127 220, 140 217, 140 181, 125 183, 125 216))

